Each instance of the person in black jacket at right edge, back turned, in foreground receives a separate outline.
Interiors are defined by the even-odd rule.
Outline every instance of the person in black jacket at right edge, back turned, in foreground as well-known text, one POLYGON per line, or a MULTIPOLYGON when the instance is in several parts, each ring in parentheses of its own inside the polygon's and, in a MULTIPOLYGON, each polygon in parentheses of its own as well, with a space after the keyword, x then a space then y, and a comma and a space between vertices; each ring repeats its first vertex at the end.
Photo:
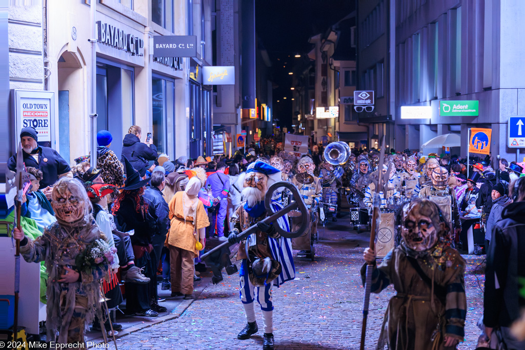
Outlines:
POLYGON ((487 252, 483 323, 489 338, 498 332, 508 349, 525 349, 525 341, 516 340, 509 328, 525 305, 518 282, 525 278, 525 179, 510 185, 510 196, 513 203, 503 209, 487 252))

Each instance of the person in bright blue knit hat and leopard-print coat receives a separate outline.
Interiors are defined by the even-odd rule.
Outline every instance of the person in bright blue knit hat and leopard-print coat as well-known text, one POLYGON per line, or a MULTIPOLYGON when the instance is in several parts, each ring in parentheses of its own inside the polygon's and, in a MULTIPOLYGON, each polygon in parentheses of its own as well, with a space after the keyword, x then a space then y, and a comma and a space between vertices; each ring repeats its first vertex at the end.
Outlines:
POLYGON ((107 130, 97 133, 97 168, 100 169, 105 184, 124 186, 124 165, 117 155, 109 149, 113 136, 107 130))

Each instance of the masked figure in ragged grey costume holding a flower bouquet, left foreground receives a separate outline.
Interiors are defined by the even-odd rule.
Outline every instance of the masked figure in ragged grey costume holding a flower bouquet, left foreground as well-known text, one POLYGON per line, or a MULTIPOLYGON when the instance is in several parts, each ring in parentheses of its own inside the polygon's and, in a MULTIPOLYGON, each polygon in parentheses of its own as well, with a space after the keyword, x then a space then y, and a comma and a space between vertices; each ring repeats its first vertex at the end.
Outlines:
POLYGON ((20 254, 28 262, 45 261, 47 280, 47 337, 57 343, 85 346, 84 331, 100 310, 100 283, 106 277, 113 257, 109 246, 90 214, 91 203, 83 185, 72 178, 61 178, 51 193, 57 222, 37 239, 21 239, 20 254), (101 251, 100 263, 86 265, 92 248, 101 251), (58 338, 56 333, 58 332, 58 338))

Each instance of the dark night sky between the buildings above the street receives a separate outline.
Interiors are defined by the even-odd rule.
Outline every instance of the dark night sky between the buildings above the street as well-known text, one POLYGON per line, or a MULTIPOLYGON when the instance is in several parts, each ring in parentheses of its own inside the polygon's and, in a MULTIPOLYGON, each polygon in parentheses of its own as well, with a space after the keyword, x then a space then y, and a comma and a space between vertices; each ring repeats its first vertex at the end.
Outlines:
POLYGON ((255 0, 257 36, 268 50, 272 79, 278 86, 273 101, 277 125, 291 128, 292 76, 288 72, 303 59, 294 56, 308 54, 311 36, 325 33, 354 9, 353 0, 255 0))

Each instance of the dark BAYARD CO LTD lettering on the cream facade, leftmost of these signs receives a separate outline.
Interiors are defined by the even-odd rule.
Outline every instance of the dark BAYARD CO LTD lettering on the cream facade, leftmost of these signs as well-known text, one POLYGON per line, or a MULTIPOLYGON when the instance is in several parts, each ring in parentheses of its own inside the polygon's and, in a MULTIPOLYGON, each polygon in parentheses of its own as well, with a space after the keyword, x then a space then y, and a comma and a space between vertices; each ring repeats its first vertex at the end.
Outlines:
POLYGON ((132 56, 144 56, 143 39, 101 20, 97 21, 97 40, 100 44, 127 51, 132 56))

